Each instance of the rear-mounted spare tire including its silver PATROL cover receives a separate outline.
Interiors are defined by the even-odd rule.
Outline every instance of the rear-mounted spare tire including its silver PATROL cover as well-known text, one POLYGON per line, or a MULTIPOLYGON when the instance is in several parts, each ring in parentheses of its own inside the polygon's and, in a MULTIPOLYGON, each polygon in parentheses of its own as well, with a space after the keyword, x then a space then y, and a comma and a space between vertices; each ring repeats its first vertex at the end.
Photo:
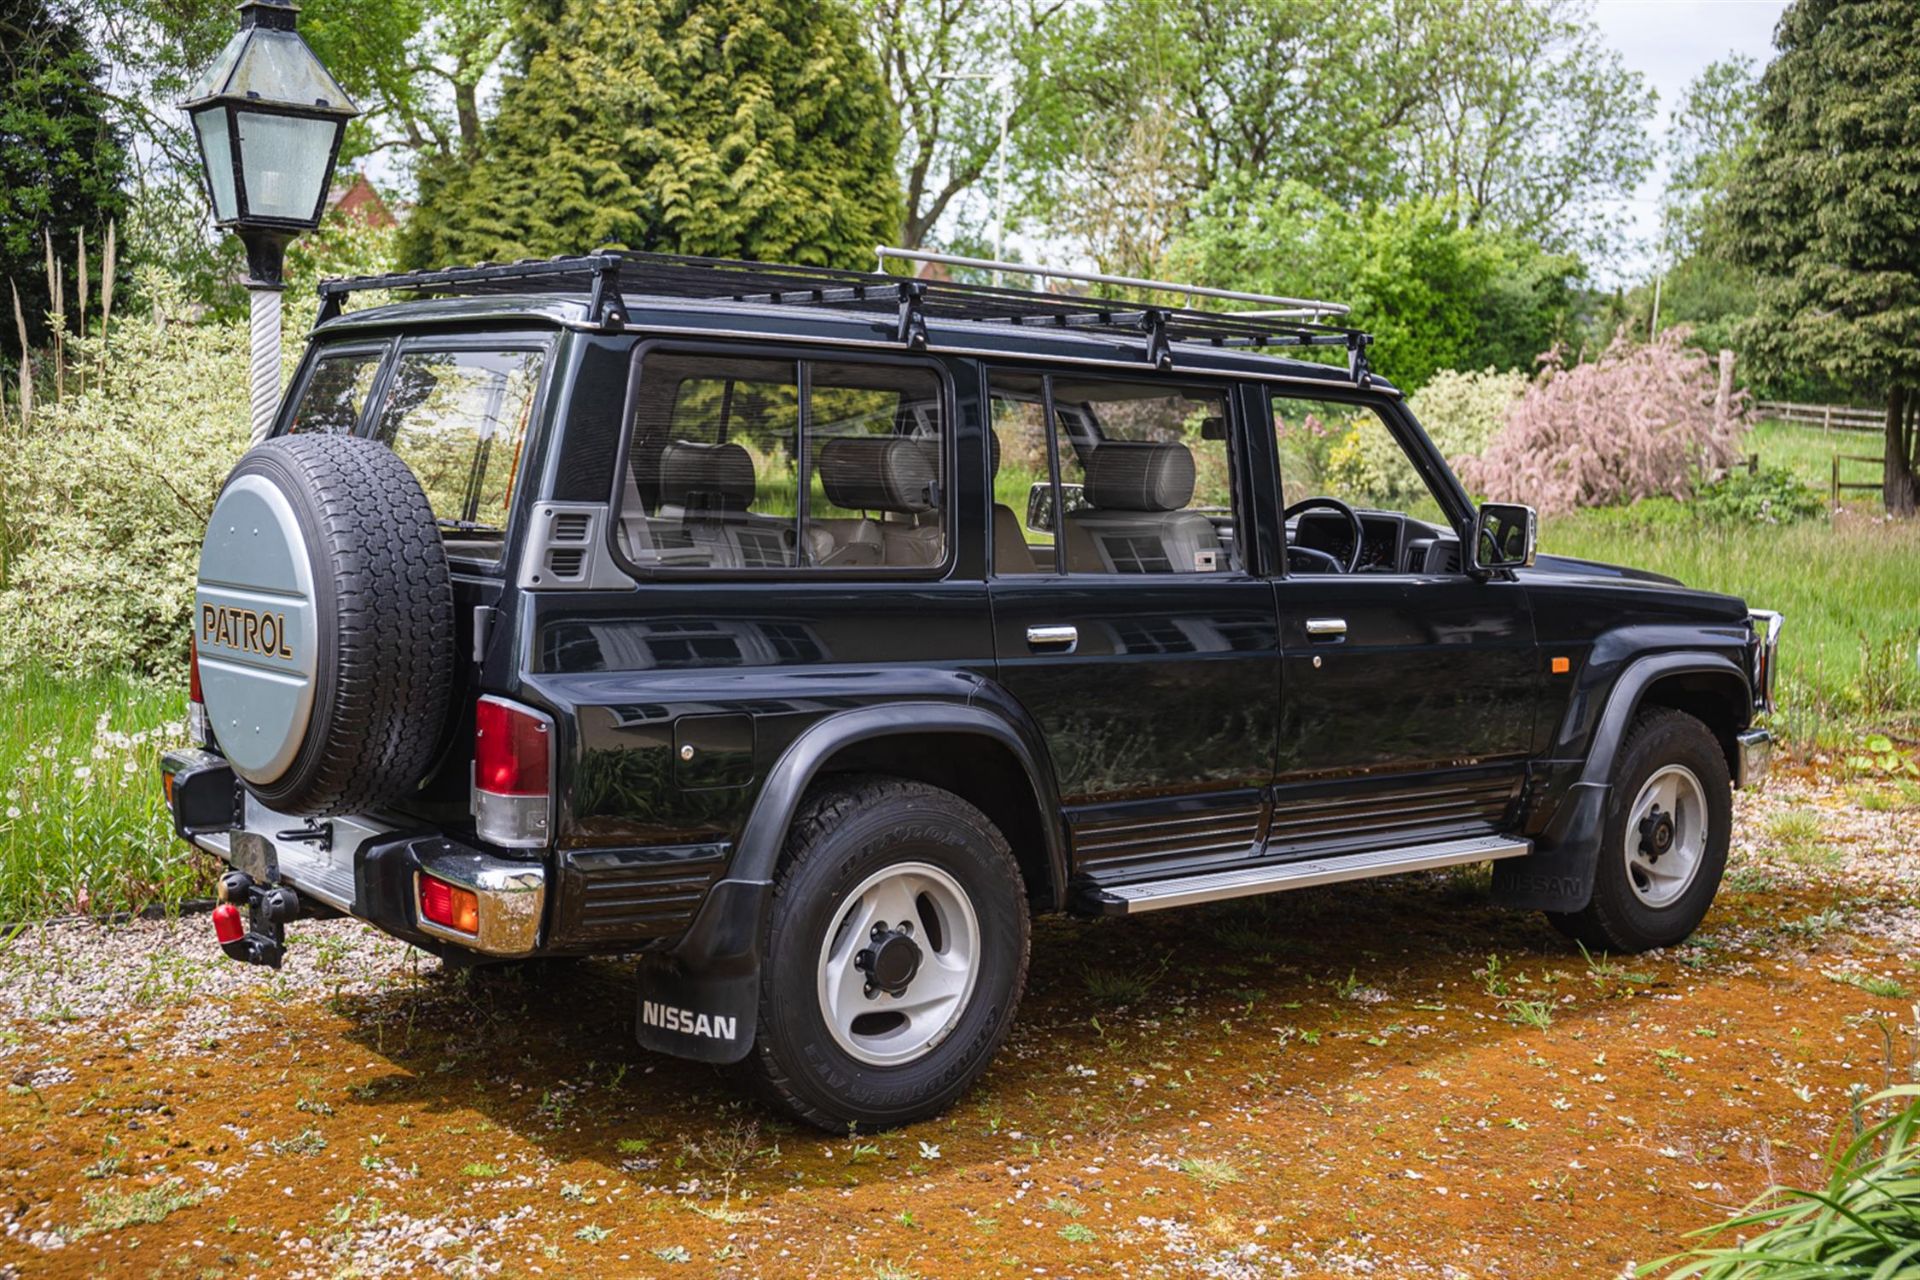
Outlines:
POLYGON ((240 459, 194 593, 207 725, 280 814, 390 804, 432 766, 453 583, 420 482, 386 445, 284 436, 240 459))

